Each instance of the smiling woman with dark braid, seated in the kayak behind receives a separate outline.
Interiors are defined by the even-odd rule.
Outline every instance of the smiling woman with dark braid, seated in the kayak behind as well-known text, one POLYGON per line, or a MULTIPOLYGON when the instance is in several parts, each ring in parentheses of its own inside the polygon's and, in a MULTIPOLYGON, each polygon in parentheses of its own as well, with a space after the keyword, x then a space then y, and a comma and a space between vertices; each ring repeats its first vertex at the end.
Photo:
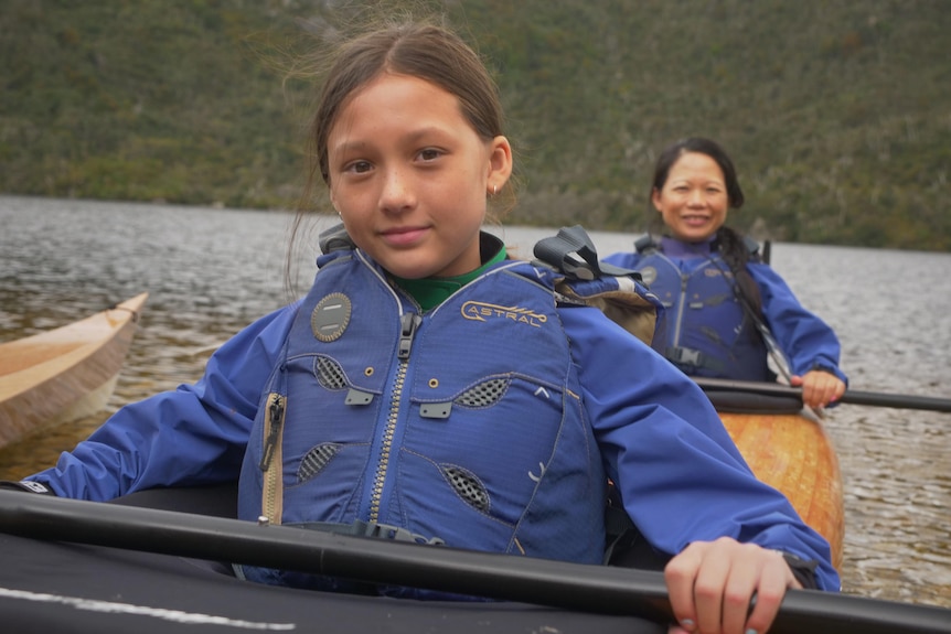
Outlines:
POLYGON ((782 354, 777 365, 790 366, 786 378, 802 386, 804 405, 819 408, 841 398, 847 379, 835 333, 759 260, 755 243, 725 225, 744 195, 723 148, 704 138, 666 148, 651 203, 666 234, 606 261, 640 271, 664 303, 659 333, 667 359, 693 376, 771 382, 767 356, 782 354))

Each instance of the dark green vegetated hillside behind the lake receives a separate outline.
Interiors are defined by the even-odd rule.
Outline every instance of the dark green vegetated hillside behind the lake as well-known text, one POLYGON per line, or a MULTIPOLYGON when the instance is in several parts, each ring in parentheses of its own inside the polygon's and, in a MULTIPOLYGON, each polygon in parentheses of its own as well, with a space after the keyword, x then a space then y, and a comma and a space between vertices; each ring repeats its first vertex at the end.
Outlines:
MULTIPOLYGON (((0 191, 296 204, 312 86, 265 60, 340 4, 4 0, 0 191)), ((522 176, 509 222, 640 230, 656 153, 703 135, 737 162, 737 227, 951 250, 948 0, 415 6, 445 7, 496 72, 522 176)))

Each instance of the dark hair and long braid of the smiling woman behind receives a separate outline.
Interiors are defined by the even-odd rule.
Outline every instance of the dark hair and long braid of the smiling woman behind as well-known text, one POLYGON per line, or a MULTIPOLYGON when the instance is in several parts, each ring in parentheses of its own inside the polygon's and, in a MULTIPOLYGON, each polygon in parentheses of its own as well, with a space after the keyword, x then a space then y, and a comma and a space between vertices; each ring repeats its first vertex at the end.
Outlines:
MULTIPOLYGON (((661 152, 654 166, 651 195, 653 195, 654 191, 659 192, 664 189, 664 184, 666 184, 667 176, 671 173, 671 168, 677 162, 677 159, 690 153, 706 154, 719 165, 724 182, 726 183, 727 202, 731 208, 740 208, 744 202, 746 202, 746 197, 742 195, 739 179, 736 175, 736 168, 729 154, 726 153, 726 150, 719 143, 704 137, 681 139, 667 146, 661 152)), ((717 229, 715 244, 724 261, 729 266, 730 271, 736 278, 737 284, 739 284, 739 291, 742 295, 740 301, 747 301, 757 315, 762 314, 762 297, 759 293, 759 287, 756 286, 756 281, 754 281, 752 276, 749 275, 746 268, 750 254, 742 239, 742 235, 736 229, 723 225, 717 229)))

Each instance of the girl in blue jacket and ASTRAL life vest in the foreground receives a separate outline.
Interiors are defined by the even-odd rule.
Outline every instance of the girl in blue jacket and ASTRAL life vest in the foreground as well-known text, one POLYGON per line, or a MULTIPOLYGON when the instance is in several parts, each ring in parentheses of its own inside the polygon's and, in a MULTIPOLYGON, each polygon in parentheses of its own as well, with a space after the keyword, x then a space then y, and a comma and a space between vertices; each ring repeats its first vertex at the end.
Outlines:
POLYGON ((610 479, 673 557, 678 627, 766 632, 787 588, 836 590, 829 545, 754 477, 703 393, 554 291, 623 294, 632 279, 566 280, 482 233, 512 174, 502 132, 494 84, 450 31, 404 24, 350 42, 312 135, 345 233, 324 239, 308 295, 24 486, 104 501, 239 479, 249 520, 599 563, 610 479))

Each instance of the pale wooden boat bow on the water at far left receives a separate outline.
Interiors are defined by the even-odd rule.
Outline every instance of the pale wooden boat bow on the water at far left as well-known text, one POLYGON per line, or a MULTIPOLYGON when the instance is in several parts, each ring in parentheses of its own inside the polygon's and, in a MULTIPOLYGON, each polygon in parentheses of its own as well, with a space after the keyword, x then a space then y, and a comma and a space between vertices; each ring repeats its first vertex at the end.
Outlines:
POLYGON ((0 344, 0 447, 105 407, 147 298, 0 344))

